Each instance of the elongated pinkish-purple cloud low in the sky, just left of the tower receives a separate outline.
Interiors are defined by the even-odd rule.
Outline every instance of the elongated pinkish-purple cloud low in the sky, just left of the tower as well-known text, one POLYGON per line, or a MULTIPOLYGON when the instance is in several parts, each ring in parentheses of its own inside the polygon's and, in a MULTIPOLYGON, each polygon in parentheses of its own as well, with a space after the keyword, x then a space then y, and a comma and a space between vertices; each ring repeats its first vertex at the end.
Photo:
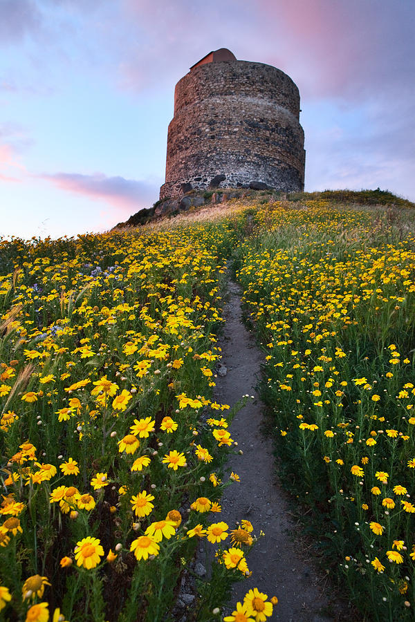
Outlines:
POLYGON ((55 173, 38 177, 52 182, 62 190, 107 202, 118 211, 117 216, 114 213, 115 218, 129 216, 134 211, 149 207, 158 198, 159 187, 154 183, 125 179, 120 176, 107 177, 103 173, 93 175, 55 173))

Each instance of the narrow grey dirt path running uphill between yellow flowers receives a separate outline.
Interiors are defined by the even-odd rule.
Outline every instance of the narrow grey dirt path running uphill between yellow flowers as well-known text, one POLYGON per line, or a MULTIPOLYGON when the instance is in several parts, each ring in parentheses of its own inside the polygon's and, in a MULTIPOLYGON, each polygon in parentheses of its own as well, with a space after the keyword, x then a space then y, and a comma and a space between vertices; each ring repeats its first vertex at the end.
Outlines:
POLYGON ((230 283, 224 331, 220 345, 228 373, 218 377, 215 398, 230 406, 246 393, 254 395, 255 400, 248 401, 229 428, 243 455, 230 458, 227 472, 236 471, 241 484, 234 483, 225 491, 221 520, 234 528, 236 520, 247 518, 256 533, 263 529, 266 534, 248 558, 252 577, 234 585, 230 607, 242 601, 252 587, 258 587, 268 598, 277 596, 279 600, 272 620, 333 621, 335 618, 327 614, 326 577, 317 574, 299 555, 299 547, 290 535, 295 531, 289 514, 291 505, 276 479, 273 443, 261 432, 264 406, 254 390, 264 355, 241 323, 240 292, 235 283, 230 283))

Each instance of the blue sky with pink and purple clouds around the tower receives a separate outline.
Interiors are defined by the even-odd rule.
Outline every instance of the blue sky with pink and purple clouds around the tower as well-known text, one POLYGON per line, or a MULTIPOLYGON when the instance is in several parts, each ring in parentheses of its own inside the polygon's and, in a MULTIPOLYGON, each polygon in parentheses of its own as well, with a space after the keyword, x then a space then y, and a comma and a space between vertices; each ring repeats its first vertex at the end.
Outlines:
POLYGON ((414 0, 0 0, 0 236, 151 207, 174 86, 222 47, 297 84, 306 191, 414 201, 414 32, 414 0))

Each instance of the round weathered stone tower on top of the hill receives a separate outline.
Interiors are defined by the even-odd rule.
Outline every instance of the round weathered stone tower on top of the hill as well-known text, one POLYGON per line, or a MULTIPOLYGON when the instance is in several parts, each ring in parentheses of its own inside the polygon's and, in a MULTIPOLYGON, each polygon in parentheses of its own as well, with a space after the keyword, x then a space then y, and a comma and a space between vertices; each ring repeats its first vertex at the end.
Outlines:
POLYGON ((210 52, 176 84, 160 199, 216 187, 304 189, 299 91, 283 71, 210 52))

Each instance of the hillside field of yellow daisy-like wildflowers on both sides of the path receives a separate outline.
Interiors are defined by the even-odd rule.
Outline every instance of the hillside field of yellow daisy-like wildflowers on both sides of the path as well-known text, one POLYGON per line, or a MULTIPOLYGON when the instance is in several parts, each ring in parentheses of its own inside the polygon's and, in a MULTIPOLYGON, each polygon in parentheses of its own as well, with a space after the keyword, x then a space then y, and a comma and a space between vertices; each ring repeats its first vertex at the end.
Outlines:
MULTIPOLYGON (((324 567, 368 620, 413 619, 414 213, 269 199, 0 242, 0 619, 174 620, 200 545, 188 619, 223 619, 261 530, 221 520, 248 399, 212 397, 229 272, 324 567)), ((260 590, 225 620, 270 617, 260 590)))

